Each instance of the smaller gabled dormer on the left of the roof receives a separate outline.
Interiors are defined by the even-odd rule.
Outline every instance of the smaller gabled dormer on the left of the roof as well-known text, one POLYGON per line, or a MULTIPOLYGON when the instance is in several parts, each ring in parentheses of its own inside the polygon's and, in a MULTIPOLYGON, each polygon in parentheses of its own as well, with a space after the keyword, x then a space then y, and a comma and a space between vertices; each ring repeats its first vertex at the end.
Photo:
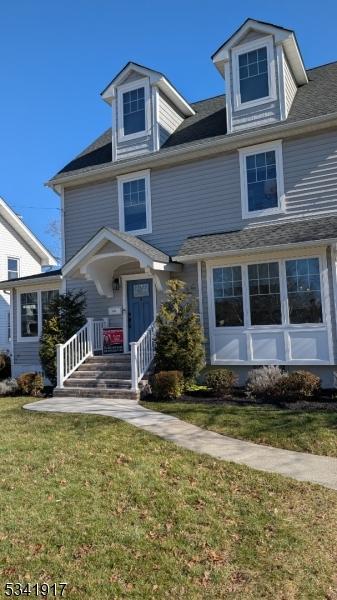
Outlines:
POLYGON ((112 107, 113 161, 155 152, 194 110, 166 77, 129 62, 101 94, 112 107))

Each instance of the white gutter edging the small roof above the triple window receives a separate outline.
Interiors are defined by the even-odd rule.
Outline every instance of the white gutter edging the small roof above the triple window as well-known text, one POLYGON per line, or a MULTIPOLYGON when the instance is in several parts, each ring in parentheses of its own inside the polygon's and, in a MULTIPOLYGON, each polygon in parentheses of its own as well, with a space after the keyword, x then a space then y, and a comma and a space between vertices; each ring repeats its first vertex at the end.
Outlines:
POLYGON ((188 263, 222 256, 241 256, 243 254, 251 254, 253 252, 270 252, 273 250, 292 250, 293 248, 303 248, 305 246, 327 246, 328 244, 333 243, 337 243, 337 238, 308 240, 307 242, 293 242, 291 244, 275 244, 273 246, 255 246, 254 248, 242 248, 239 250, 217 250, 215 252, 205 252, 200 254, 183 254, 181 256, 173 256, 172 260, 180 263, 188 263))

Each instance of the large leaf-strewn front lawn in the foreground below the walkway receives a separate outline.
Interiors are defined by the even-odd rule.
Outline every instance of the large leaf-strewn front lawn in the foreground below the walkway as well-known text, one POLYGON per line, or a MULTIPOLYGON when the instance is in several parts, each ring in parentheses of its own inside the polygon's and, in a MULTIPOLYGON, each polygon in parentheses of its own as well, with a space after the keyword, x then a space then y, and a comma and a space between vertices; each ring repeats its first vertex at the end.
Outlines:
POLYGON ((0 399, 0 597, 6 581, 81 600, 335 597, 337 493, 22 403, 0 399))

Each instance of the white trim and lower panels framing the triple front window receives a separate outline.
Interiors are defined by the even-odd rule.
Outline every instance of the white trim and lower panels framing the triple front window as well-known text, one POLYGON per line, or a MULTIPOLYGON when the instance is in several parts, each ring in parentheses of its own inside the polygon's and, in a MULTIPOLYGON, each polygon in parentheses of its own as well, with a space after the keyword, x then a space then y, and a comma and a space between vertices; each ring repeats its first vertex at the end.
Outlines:
MULTIPOLYGON (((330 294, 329 294, 329 278, 328 278, 328 265, 326 253, 324 250, 317 252, 302 252, 298 254, 291 253, 289 256, 283 257, 257 257, 254 258, 242 258, 242 260, 221 260, 215 259, 208 261, 206 265, 207 269, 207 298, 208 298, 208 318, 210 324, 209 338, 211 347, 211 364, 242 364, 242 365, 256 365, 256 364, 298 364, 298 365, 331 365, 334 364, 333 354, 333 336, 332 336, 332 322, 331 322, 331 307, 330 307, 330 294), (322 323, 290 323, 289 321, 289 308, 288 308, 288 292, 287 292, 287 280, 285 263, 288 260, 301 260, 318 258, 319 269, 320 269, 320 284, 321 284, 321 302, 322 302, 322 323), (248 282, 248 265, 250 264, 261 264, 267 262, 277 262, 279 264, 279 277, 280 277, 280 299, 281 299, 281 315, 282 323, 280 325, 251 325, 250 323, 250 298, 249 298, 249 282, 248 282), (213 286, 213 269, 219 267, 238 267, 242 269, 242 296, 243 296, 243 310, 244 310, 244 325, 243 326, 230 326, 230 327, 216 327, 215 318, 215 298, 214 298, 214 286, 213 286), (292 359, 290 353, 290 341, 289 332, 291 331, 310 331, 310 330, 323 330, 327 332, 328 338, 328 355, 329 360, 310 360, 310 359, 292 359), (247 335, 247 344, 251 343, 250 333, 257 332, 283 332, 285 340, 285 352, 286 360, 279 361, 275 359, 271 360, 219 360, 216 359, 215 352, 215 337, 214 334, 218 333, 245 333, 247 335)), ((251 355, 250 348, 247 349, 248 357, 251 355)))

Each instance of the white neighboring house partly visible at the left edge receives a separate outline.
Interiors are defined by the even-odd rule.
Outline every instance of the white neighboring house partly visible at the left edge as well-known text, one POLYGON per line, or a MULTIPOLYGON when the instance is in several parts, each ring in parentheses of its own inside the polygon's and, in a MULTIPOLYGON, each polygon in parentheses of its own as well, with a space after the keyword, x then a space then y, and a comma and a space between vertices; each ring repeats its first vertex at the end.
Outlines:
MULTIPOLYGON (((55 258, 39 242, 10 206, 0 198, 0 281, 41 272, 42 266, 55 265, 55 258)), ((12 351, 13 315, 10 294, 0 291, 0 352, 12 351)))

